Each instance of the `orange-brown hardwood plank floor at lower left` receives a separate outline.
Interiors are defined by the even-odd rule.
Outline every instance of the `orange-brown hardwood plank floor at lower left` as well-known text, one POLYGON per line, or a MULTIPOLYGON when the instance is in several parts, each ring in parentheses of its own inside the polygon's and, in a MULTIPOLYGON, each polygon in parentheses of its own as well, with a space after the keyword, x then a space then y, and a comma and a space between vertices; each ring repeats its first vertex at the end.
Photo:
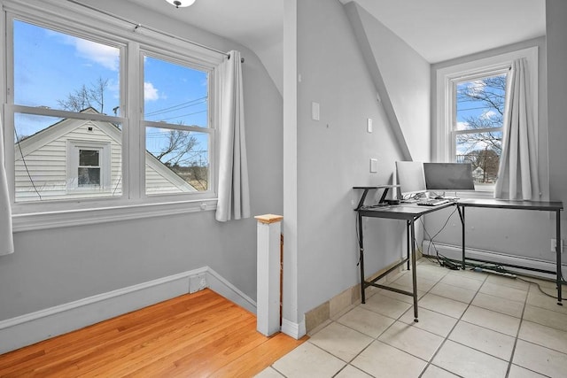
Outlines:
POLYGON ((305 340, 205 289, 0 355, 0 377, 252 377, 305 340))

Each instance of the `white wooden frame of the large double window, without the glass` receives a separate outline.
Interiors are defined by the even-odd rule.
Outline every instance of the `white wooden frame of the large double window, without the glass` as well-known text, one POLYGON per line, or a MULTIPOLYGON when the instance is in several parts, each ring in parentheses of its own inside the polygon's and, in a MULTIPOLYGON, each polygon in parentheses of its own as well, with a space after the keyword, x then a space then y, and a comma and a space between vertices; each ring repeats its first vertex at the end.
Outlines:
MULTIPOLYGON (((183 39, 162 34, 152 29, 137 30, 130 22, 96 12, 80 4, 58 0, 3 1, 3 17, 0 18, 0 37, 7 41, 7 48, 0 52, 0 68, 4 75, 0 93, 4 119, 4 151, 8 181, 12 182, 12 225, 14 232, 94 224, 115 220, 131 220, 176 213, 212 211, 216 208, 215 155, 218 153, 216 120, 218 99, 215 96, 214 76, 224 54, 206 49, 183 39), (50 27, 71 35, 107 44, 122 46, 120 51, 120 116, 66 112, 53 109, 31 108, 13 104, 12 17, 42 27, 50 27), (133 33, 135 31, 135 33, 133 33), (183 64, 209 71, 209 164, 211 181, 206 192, 145 195, 144 152, 145 135, 142 117, 144 83, 141 77, 139 57, 141 50, 156 51, 164 57, 182 59, 183 64), (183 52, 180 52, 183 51, 183 52), (138 81, 132 78, 139 78, 138 81), (7 78, 7 81, 4 81, 7 78), (122 196, 105 198, 81 198, 16 203, 14 198, 14 148, 13 114, 17 112, 58 118, 105 121, 122 127, 122 196)), ((203 131, 203 130, 199 130, 203 131)), ((110 153, 110 152, 109 152, 110 153)))

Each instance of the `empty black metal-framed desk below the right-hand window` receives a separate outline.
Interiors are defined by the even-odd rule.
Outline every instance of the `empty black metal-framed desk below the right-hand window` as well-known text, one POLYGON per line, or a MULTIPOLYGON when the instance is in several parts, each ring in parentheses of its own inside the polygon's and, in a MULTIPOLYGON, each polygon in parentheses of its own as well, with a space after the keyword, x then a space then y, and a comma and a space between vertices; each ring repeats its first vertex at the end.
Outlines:
MULTIPOLYGON (((563 211, 563 202, 545 202, 545 201, 511 201, 505 199, 493 199, 493 198, 482 198, 482 199, 460 199, 457 201, 457 209, 459 211, 459 217, 462 223, 462 269, 465 266, 465 217, 464 209, 466 207, 485 207, 491 209, 516 209, 516 210, 535 210, 540 212, 555 212, 555 240, 557 241, 555 245, 555 264, 556 272, 536 269, 532 267, 525 266, 515 266, 511 264, 498 263, 501 266, 510 266, 521 268, 524 270, 531 270, 534 272, 541 272, 547 274, 555 274, 555 281, 557 284, 557 305, 563 305, 562 295, 561 295, 561 285, 566 283, 563 281, 563 275, 561 273, 561 212, 563 211)), ((480 260, 478 258, 469 258, 470 260, 476 260, 481 262, 491 263, 492 261, 480 260)))

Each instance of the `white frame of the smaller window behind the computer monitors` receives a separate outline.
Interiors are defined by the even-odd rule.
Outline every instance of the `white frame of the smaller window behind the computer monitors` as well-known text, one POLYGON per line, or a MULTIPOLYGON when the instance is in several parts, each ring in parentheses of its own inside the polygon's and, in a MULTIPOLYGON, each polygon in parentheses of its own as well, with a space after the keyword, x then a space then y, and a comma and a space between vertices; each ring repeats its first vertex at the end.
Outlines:
MULTIPOLYGON (((511 51, 501 55, 439 68, 436 72, 436 120, 433 123, 433 148, 431 153, 434 162, 454 162, 455 161, 455 139, 458 131, 454 131, 454 81, 467 77, 473 79, 475 76, 485 77, 491 74, 503 73, 512 66, 512 62, 517 58, 526 58, 530 67, 530 78, 533 101, 533 114, 538 117, 538 47, 530 47, 523 50, 511 51)), ((483 130, 480 130, 483 131, 483 130)), ((489 130, 493 131, 493 129, 489 130)), ((536 131, 537 135, 537 131, 536 131)), ((483 196, 477 189, 477 195, 483 196)), ((493 187, 485 189, 485 196, 493 195, 493 187)), ((470 197, 470 193, 467 193, 470 197)))

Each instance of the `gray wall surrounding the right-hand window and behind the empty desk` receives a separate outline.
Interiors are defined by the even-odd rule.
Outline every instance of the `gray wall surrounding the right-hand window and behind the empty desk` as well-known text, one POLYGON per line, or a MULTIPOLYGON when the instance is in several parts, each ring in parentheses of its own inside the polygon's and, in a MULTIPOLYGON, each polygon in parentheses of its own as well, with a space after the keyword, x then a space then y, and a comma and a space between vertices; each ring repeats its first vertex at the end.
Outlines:
MULTIPOLYGON (((552 156, 548 151, 548 74, 547 74, 547 49, 546 38, 540 37, 534 40, 503 46, 499 49, 488 50, 467 57, 456 58, 431 66, 431 80, 436 80, 437 70, 447 66, 492 57, 514 50, 522 50, 537 46, 539 51, 538 78, 539 78, 539 169, 541 179, 541 191, 548 196, 548 157, 552 156)), ((431 93, 432 109, 437 104, 437 94, 431 93)), ((438 120, 433 114, 432 124, 438 120)), ((559 199, 552 197, 552 199, 559 199)), ((436 234, 447 220, 450 212, 436 212, 425 217, 425 228, 430 235, 436 234)), ((470 248, 497 251, 513 256, 526 258, 540 258, 542 260, 555 261, 555 254, 550 251, 550 238, 555 237, 555 218, 550 218, 548 212, 519 212, 501 211, 487 209, 468 209, 467 215, 467 246, 470 248)), ((438 243, 461 245, 461 221, 455 212, 447 227, 435 238, 438 243)), ((426 236, 426 239, 428 237, 426 236)), ((429 251, 434 254, 434 251, 429 251)))

